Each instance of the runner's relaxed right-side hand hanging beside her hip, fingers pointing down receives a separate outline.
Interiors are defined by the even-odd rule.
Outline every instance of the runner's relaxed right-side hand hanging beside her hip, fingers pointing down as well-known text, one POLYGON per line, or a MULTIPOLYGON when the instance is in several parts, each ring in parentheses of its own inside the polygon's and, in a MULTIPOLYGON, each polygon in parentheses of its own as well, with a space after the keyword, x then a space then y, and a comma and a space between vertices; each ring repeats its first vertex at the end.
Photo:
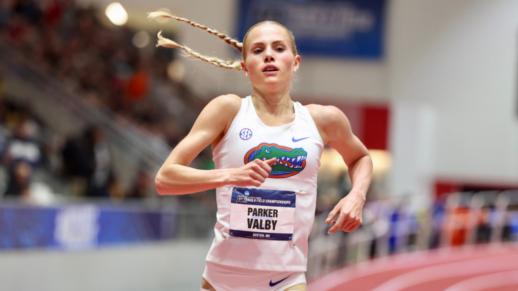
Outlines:
POLYGON ((327 220, 325 222, 330 222, 333 225, 327 233, 333 234, 333 232, 336 232, 339 229, 346 232, 356 230, 358 226, 362 225, 362 210, 364 204, 364 196, 352 191, 346 197, 342 198, 335 208, 329 212, 329 215, 327 215, 327 220), (338 220, 332 221, 337 214, 340 214, 338 216, 338 220))

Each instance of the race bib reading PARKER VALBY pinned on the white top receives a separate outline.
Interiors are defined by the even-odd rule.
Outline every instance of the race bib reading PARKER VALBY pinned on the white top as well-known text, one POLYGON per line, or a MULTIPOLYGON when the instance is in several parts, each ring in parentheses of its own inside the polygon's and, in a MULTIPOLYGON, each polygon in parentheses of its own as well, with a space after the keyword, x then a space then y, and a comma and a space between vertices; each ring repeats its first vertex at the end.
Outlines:
POLYGON ((234 187, 230 207, 230 235, 292 240, 295 220, 293 191, 234 187))

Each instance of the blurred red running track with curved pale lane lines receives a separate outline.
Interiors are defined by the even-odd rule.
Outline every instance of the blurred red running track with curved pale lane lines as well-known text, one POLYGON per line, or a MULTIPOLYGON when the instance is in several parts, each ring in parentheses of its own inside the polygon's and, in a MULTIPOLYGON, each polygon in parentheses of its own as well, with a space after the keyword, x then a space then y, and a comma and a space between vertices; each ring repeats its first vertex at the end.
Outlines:
POLYGON ((393 255, 309 282, 310 291, 518 291, 518 244, 393 255))

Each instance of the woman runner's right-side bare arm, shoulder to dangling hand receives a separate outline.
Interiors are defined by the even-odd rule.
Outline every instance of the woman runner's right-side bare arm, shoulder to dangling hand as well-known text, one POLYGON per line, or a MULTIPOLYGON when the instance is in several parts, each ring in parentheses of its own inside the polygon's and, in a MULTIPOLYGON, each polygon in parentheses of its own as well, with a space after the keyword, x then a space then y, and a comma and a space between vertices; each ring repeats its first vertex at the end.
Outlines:
POLYGON ((334 106, 308 105, 311 116, 319 128, 324 144, 329 144, 342 156, 349 168, 352 182, 351 192, 340 200, 329 213, 326 223, 333 227, 329 233, 341 229, 354 231, 362 224, 362 210, 365 196, 372 179, 372 159, 363 143, 353 135, 346 115, 334 106), (332 221, 336 214, 338 220, 332 221))

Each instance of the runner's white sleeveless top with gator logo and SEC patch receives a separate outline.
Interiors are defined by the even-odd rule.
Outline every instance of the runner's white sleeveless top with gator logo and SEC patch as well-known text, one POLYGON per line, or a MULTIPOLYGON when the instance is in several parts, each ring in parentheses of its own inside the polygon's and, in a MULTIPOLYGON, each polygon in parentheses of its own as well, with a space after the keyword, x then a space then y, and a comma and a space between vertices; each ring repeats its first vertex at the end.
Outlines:
POLYGON ((253 159, 274 156, 278 164, 258 188, 216 189, 217 223, 207 261, 255 270, 306 271, 324 143, 308 109, 298 102, 294 107, 293 122, 267 126, 257 116, 251 96, 242 99, 228 132, 213 151, 215 168, 239 168, 253 159), (265 199, 257 198, 261 191, 265 199), (242 231, 247 228, 250 231, 242 231))

